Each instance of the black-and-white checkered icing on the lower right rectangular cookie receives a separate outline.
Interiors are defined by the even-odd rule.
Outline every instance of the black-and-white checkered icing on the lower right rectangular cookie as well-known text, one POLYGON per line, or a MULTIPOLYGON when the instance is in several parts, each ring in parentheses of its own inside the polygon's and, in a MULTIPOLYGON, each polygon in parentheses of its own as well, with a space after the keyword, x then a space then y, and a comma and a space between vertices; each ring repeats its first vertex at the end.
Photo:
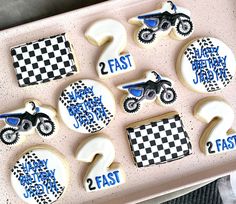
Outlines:
POLYGON ((161 164, 192 153, 191 143, 179 115, 127 128, 138 167, 161 164))

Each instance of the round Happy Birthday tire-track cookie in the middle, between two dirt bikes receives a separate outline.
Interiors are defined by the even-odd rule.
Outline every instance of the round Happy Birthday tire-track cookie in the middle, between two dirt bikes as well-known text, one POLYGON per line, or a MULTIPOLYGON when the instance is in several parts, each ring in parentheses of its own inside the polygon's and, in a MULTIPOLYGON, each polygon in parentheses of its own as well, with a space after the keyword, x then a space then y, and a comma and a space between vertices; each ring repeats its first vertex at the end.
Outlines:
POLYGON ((76 81, 65 88, 58 108, 63 122, 81 133, 94 133, 105 128, 116 111, 110 90, 90 79, 76 81))

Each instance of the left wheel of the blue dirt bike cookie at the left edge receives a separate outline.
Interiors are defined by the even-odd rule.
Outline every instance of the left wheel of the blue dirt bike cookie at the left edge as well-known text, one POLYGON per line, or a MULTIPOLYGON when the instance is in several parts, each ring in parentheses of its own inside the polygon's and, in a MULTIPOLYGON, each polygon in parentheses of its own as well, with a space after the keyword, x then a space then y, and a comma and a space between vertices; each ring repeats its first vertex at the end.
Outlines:
POLYGON ((14 128, 4 128, 0 132, 1 141, 6 145, 13 145, 19 140, 19 132, 14 128))

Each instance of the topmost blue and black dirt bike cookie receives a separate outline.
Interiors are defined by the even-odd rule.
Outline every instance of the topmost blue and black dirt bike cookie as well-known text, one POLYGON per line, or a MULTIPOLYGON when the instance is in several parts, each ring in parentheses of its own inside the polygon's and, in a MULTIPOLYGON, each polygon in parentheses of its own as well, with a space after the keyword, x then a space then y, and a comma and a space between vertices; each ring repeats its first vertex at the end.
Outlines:
POLYGON ((153 46, 167 35, 184 40, 193 33, 190 11, 176 6, 172 1, 164 2, 161 9, 129 19, 129 23, 139 26, 134 39, 143 48, 153 46))

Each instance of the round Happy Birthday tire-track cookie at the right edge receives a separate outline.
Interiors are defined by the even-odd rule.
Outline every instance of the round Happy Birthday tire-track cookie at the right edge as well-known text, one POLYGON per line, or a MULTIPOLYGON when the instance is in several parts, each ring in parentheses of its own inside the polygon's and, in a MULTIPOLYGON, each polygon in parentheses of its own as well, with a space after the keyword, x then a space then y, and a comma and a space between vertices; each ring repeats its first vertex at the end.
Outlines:
POLYGON ((188 43, 181 50, 176 71, 188 88, 209 93, 222 90, 232 81, 236 61, 233 52, 222 41, 203 37, 188 43))

